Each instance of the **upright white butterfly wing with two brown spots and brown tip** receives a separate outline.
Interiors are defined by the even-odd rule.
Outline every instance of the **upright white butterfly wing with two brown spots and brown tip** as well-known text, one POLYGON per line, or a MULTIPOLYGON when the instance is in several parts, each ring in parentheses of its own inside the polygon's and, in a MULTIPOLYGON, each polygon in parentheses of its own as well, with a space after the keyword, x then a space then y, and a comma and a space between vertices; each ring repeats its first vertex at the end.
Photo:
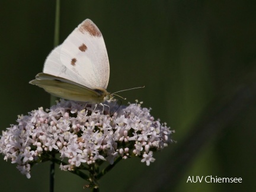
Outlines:
POLYGON ((106 89, 110 66, 98 27, 89 19, 78 25, 47 57, 43 72, 87 88, 106 89))

